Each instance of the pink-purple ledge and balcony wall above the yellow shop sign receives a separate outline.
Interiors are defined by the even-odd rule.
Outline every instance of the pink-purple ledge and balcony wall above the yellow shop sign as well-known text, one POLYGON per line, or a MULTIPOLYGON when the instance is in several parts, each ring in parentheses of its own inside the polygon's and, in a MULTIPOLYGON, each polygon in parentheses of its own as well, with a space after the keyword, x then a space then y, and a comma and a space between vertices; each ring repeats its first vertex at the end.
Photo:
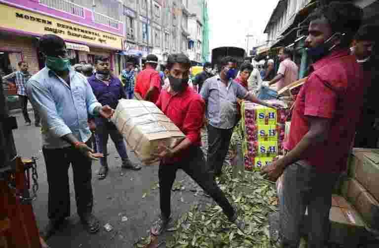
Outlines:
POLYGON ((41 14, 63 19, 72 23, 79 24, 79 25, 84 25, 89 28, 111 32, 111 33, 123 36, 124 28, 123 28, 122 23, 119 23, 118 30, 102 25, 102 24, 95 23, 92 21, 92 11, 86 8, 84 8, 84 18, 81 18, 79 16, 71 15, 69 13, 41 5, 39 4, 39 0, 0 0, 0 3, 5 3, 10 6, 38 12, 41 14))

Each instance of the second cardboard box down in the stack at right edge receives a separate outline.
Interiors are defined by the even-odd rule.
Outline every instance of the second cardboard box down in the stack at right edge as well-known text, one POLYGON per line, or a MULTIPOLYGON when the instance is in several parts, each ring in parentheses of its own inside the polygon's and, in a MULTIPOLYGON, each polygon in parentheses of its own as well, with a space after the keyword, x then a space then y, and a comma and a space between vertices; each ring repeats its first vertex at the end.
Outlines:
POLYGON ((342 195, 351 202, 365 223, 379 230, 379 202, 357 180, 349 179, 342 185, 342 195))

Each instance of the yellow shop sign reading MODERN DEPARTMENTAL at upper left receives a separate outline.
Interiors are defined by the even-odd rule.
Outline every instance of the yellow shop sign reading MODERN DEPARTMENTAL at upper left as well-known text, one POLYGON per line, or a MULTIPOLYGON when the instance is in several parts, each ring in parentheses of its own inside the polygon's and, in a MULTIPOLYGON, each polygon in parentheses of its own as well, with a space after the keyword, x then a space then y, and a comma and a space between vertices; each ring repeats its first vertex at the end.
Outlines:
MULTIPOLYGON (((121 49, 122 37, 28 10, 0 4, 0 29, 33 33, 36 36, 56 34, 65 40, 121 49)), ((84 49, 84 48, 82 48, 84 49)))

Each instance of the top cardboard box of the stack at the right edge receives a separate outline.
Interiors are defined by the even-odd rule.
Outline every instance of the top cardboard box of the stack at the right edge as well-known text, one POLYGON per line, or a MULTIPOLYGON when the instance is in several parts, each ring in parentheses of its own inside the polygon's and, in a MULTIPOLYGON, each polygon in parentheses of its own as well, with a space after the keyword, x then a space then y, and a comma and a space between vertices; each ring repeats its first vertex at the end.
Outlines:
POLYGON ((353 152, 349 174, 379 200, 379 153, 376 151, 353 152))

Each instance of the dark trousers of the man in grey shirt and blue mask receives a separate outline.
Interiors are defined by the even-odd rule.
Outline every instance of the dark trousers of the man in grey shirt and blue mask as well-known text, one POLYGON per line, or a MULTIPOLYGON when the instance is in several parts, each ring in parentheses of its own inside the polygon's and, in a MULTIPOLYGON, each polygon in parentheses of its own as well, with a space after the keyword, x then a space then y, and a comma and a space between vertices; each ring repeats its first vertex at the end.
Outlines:
POLYGON ((233 128, 222 129, 208 125, 208 165, 211 173, 221 175, 233 128))

